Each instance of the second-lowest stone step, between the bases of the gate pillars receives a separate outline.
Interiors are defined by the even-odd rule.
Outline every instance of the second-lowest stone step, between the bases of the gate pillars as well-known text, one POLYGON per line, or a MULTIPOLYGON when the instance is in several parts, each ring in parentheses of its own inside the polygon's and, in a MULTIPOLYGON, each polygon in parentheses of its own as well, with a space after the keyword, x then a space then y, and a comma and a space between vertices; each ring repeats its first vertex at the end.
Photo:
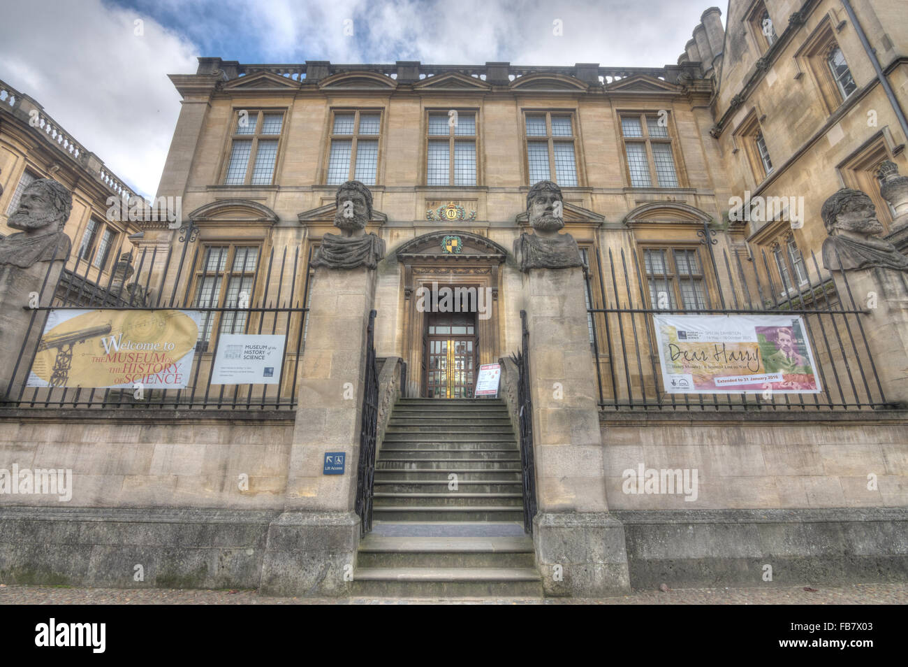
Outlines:
POLYGON ((356 567, 536 566, 533 540, 521 537, 410 537, 369 534, 360 542, 356 567))

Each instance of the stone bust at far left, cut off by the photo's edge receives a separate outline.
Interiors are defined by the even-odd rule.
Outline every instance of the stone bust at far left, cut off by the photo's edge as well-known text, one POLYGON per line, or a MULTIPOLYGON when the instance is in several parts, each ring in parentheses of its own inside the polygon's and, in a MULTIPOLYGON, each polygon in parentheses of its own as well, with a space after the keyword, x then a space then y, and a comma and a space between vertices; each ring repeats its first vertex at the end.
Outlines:
POLYGON ((37 262, 68 258, 73 244, 63 228, 72 210, 73 195, 63 185, 51 178, 29 184, 6 221, 22 231, 0 240, 0 265, 27 269, 37 262))

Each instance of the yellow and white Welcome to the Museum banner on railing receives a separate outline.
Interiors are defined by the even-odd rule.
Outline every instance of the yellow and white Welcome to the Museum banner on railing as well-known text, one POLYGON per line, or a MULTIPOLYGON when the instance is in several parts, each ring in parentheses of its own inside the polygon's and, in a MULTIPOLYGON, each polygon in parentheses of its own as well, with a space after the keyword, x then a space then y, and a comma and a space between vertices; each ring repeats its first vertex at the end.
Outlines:
POLYGON ((30 387, 185 389, 202 314, 178 310, 51 310, 30 387))

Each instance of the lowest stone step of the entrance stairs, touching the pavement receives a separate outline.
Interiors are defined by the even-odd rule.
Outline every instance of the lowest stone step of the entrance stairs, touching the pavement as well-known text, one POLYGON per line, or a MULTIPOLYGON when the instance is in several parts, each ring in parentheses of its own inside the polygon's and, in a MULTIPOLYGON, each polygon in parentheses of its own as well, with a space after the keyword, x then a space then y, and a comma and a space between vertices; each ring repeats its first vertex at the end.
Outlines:
POLYGON ((393 597, 536 597, 542 579, 535 568, 357 568, 353 595, 393 597))

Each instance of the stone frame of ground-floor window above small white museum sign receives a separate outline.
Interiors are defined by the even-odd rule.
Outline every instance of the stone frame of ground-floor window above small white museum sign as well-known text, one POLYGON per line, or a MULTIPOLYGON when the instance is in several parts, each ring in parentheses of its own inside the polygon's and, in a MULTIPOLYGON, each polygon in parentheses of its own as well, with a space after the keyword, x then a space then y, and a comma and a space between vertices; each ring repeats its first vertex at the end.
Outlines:
MULTIPOLYGON (((265 243, 263 239, 258 238, 229 238, 229 237, 214 237, 202 239, 199 247, 199 252, 195 261, 195 265, 192 266, 192 281, 189 288, 190 294, 189 304, 187 307, 192 309, 192 307, 201 307, 201 308, 222 308, 224 302, 227 298, 228 287, 230 284, 230 279, 232 277, 252 277, 252 294, 249 295, 249 304, 255 302, 257 293, 261 292, 263 289, 259 284, 258 280, 259 272, 262 268, 262 257, 265 252, 265 243), (218 298, 217 303, 212 303, 211 301, 205 303, 197 303, 201 297, 200 290, 202 288, 202 281, 204 278, 209 277, 211 273, 206 271, 206 264, 208 260, 208 250, 210 248, 217 247, 226 247, 227 248, 227 257, 224 260, 224 270, 217 271, 214 274, 214 277, 217 278, 220 275, 220 281, 218 286, 218 298), (233 271, 233 262, 236 256, 236 249, 238 247, 254 247, 258 250, 258 255, 256 257, 255 267, 252 271, 233 271)), ((243 268, 245 268, 245 262, 243 268)), ((249 314, 247 319, 243 321, 242 331, 234 330, 227 333, 246 333, 252 327, 252 323, 255 319, 255 314, 249 314)), ((222 317, 223 313, 211 313, 206 312, 202 313, 202 326, 199 329, 199 338, 196 341, 196 352, 198 353, 213 353, 211 347, 212 335, 217 332, 220 335, 221 326, 222 326, 222 317), (207 336, 205 336, 207 333, 207 336)))

